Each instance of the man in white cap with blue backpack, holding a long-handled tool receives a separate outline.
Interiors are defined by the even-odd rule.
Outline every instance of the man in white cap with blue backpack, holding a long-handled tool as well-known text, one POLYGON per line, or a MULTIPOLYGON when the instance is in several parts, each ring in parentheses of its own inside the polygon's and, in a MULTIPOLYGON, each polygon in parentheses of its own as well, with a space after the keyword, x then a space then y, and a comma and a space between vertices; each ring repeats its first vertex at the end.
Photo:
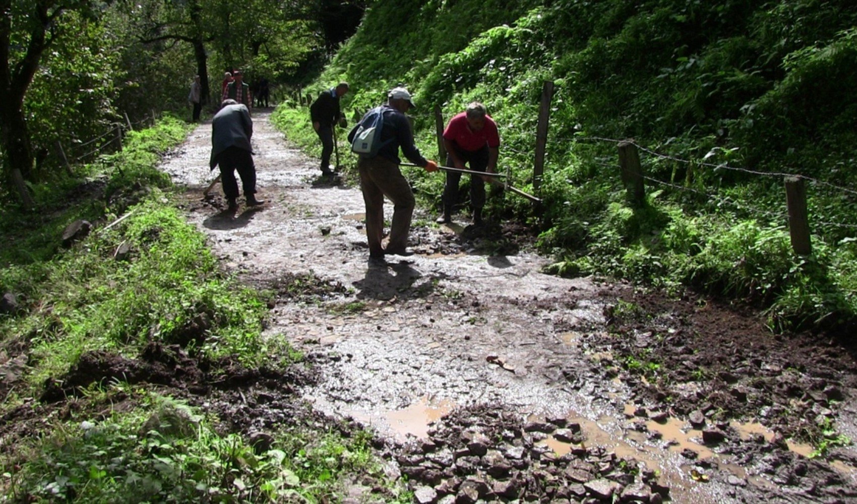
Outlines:
MULTIPOLYGON (((385 254, 411 255, 406 249, 408 232, 411 230, 411 216, 414 213, 414 193, 411 184, 399 170, 399 147, 405 158, 411 163, 423 166, 426 171, 436 171, 437 163, 423 158, 414 145, 411 123, 405 112, 413 108, 411 93, 405 87, 395 87, 387 94, 387 104, 381 105, 383 118, 380 132, 376 131, 380 145, 377 153, 361 153, 357 160, 360 171, 360 189, 363 190, 363 202, 366 204, 366 239, 369 242, 369 257, 383 258, 385 254), (384 196, 393 201, 393 222, 390 225, 390 240, 387 248, 381 246, 384 234, 384 196)), ((374 117, 374 111, 367 112, 360 123, 351 129, 348 141, 353 142, 363 122, 374 117)))

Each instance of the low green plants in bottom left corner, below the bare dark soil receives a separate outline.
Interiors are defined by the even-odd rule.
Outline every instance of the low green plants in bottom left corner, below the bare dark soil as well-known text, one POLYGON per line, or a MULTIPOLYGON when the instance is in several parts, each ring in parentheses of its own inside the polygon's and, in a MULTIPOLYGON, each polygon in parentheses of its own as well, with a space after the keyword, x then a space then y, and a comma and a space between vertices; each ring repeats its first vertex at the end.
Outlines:
POLYGON ((6 490, 13 500, 69 502, 322 501, 344 472, 380 476, 369 435, 310 435, 297 427, 256 451, 221 435, 175 399, 136 394, 140 406, 103 421, 58 424, 21 447, 6 490))

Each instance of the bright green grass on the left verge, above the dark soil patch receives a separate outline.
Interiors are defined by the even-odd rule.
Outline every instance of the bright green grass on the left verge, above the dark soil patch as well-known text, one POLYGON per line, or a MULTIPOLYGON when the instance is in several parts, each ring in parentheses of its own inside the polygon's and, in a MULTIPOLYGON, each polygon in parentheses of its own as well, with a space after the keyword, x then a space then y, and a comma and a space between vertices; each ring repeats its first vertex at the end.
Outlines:
MULTIPOLYGON (((168 186, 155 167, 157 153, 183 140, 185 128, 165 118, 158 128, 131 135, 122 153, 105 159, 115 163, 106 189, 121 195, 133 186, 168 186)), ((192 350, 258 362, 264 351, 264 304, 220 273, 203 235, 165 205, 167 194, 151 191, 132 207, 114 209, 91 200, 61 207, 68 197, 65 190, 45 190, 45 201, 55 199, 56 212, 39 219, 4 214, 4 228, 20 226, 18 219, 33 223, 26 242, 32 249, 9 242, 0 248, 5 266, 0 286, 29 300, 24 315, 0 317, 0 333, 3 341, 26 339, 33 345, 38 362, 31 375, 34 385, 62 375, 85 351, 134 353, 150 340, 187 345, 189 328, 198 326, 200 317, 213 327, 193 333, 192 350), (91 232, 71 249, 58 248, 72 220, 116 220, 120 214, 114 212, 127 217, 109 230, 91 232), (127 262, 113 259, 121 244, 133 251, 127 262)))

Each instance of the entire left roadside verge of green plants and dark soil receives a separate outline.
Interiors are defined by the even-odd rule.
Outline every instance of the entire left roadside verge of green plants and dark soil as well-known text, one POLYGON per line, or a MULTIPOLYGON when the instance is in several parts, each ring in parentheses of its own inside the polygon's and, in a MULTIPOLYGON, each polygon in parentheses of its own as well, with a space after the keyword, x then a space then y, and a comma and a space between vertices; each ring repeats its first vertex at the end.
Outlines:
POLYGON ((173 205, 157 164, 188 131, 165 117, 80 178, 34 188, 39 213, 0 217, 0 290, 18 303, 0 315, 0 502, 314 502, 358 476, 406 500, 368 433, 320 422, 296 397, 277 396, 290 415, 264 442, 231 417, 229 393, 261 387, 247 376, 291 389, 282 381, 304 366, 262 338, 261 294, 219 268, 173 205), (76 219, 92 231, 63 247, 76 219), (231 383, 236 370, 246 383, 231 383))

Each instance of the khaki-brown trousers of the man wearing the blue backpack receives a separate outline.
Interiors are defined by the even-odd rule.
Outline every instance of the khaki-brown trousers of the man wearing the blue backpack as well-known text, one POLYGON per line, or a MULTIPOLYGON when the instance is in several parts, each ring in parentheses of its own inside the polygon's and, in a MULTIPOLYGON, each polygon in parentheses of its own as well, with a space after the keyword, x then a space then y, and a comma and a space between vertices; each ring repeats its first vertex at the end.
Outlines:
POLYGON ((357 170, 360 171, 360 189, 363 190, 363 202, 366 203, 369 255, 384 255, 384 249, 381 248, 381 238, 384 236, 384 196, 393 201, 393 222, 390 225, 387 250, 404 251, 415 204, 411 184, 402 176, 399 165, 381 156, 359 159, 357 170))

